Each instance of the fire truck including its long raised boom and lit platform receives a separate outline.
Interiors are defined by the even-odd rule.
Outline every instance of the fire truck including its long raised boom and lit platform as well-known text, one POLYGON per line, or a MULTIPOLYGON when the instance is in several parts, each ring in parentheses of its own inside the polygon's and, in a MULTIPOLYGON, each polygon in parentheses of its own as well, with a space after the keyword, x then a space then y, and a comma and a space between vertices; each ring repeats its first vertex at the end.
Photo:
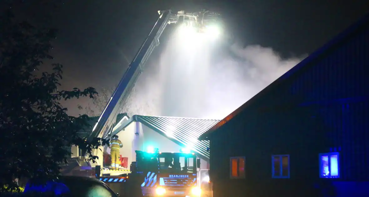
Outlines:
MULTIPOLYGON (((107 138, 111 134, 119 110, 127 102, 155 46, 159 45, 159 38, 166 25, 183 23, 184 26, 194 28, 201 33, 206 32, 206 28, 213 25, 219 16, 207 10, 196 13, 186 13, 183 10, 172 13, 172 10, 163 10, 158 13, 158 20, 118 83, 88 140, 94 137, 107 138)), ((130 165, 131 173, 128 174, 120 174, 120 176, 101 174, 103 153, 98 149, 94 150, 93 154, 99 159, 95 163, 89 162, 89 165, 95 168, 96 177, 108 184, 111 183, 111 187, 115 187, 114 183, 118 183, 116 190, 125 194, 124 196, 200 196, 201 189, 196 187, 200 159, 195 153, 135 152, 136 161, 130 165), (184 162, 183 167, 181 167, 180 158, 183 158, 181 160, 184 162)))

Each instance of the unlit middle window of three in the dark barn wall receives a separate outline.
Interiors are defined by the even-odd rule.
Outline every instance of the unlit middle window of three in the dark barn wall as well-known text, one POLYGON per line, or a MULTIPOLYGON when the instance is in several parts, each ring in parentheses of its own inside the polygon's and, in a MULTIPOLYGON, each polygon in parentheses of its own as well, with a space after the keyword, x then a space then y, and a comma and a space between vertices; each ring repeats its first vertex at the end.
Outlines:
POLYGON ((272 155, 272 178, 275 179, 290 178, 289 155, 272 155))

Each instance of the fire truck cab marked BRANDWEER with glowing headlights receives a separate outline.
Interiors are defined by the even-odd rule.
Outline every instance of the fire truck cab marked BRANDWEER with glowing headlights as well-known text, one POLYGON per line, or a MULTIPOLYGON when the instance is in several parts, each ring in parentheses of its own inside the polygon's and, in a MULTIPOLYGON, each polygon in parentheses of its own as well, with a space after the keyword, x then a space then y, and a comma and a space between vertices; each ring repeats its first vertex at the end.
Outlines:
POLYGON ((133 169, 142 174, 144 196, 200 196, 199 168, 200 159, 195 153, 136 151, 136 168, 133 169))

